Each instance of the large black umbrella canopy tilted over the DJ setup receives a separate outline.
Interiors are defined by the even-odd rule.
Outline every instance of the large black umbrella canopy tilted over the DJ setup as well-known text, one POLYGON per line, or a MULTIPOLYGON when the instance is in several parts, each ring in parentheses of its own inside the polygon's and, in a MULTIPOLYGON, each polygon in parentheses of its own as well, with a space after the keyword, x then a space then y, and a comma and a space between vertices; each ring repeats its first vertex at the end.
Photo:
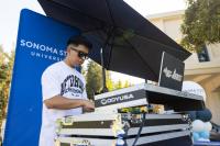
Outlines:
POLYGON ((131 76, 158 80, 162 53, 180 60, 190 53, 122 0, 38 0, 45 13, 88 37, 89 56, 103 67, 131 76))

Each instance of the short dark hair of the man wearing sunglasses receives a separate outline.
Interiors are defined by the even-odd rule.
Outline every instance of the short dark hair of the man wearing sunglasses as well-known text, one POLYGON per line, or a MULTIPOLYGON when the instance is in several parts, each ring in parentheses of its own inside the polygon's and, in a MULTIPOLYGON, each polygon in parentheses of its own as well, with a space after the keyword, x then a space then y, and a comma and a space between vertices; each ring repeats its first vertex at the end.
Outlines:
POLYGON ((77 36, 70 36, 67 41, 67 46, 69 44, 73 44, 73 45, 85 45, 86 47, 88 47, 89 49, 92 48, 92 44, 85 37, 85 36, 81 36, 81 35, 77 35, 77 36))

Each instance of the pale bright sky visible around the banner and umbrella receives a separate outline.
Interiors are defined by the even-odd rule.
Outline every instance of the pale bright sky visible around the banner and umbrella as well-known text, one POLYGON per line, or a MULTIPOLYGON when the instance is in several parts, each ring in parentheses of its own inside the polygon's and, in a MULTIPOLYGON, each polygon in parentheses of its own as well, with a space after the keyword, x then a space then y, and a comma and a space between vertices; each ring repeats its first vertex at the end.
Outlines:
MULTIPOLYGON (((185 0, 124 0, 142 15, 170 12, 186 9, 185 0)), ((22 9, 44 14, 37 0, 1 0, 0 1, 0 45, 6 52, 10 52, 15 45, 19 26, 19 16, 22 9)), ((113 74, 113 80, 129 80, 132 83, 140 83, 143 80, 113 74)))

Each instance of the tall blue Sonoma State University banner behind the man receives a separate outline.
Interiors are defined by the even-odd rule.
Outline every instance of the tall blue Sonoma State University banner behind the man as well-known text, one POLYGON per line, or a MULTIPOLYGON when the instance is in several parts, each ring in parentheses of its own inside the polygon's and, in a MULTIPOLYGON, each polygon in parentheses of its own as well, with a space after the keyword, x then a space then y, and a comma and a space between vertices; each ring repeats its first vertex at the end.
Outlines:
POLYGON ((3 146, 38 145, 42 72, 65 57, 68 37, 77 34, 77 29, 21 11, 3 146))

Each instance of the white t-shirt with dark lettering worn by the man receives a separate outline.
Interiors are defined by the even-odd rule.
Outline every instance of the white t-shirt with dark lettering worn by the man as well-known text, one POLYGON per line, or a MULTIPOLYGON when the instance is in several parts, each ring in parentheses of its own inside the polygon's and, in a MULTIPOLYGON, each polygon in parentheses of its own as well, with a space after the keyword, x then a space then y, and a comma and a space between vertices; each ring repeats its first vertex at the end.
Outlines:
MULTIPOLYGON (((61 94, 69 99, 87 99, 86 81, 76 69, 64 61, 58 61, 46 68, 42 75, 43 101, 61 94)), ((43 102, 40 146, 54 146, 55 122, 59 117, 81 114, 81 108, 72 110, 47 109, 43 102)))

